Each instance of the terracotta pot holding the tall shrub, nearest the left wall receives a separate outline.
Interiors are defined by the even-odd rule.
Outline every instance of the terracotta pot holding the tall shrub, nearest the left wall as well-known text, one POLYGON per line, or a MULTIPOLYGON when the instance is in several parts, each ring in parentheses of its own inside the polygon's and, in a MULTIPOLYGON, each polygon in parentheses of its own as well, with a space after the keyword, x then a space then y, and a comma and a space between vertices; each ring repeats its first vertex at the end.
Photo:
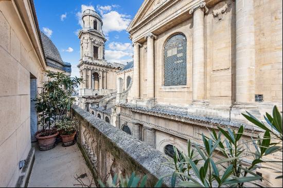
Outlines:
POLYGON ((59 135, 58 131, 50 136, 42 137, 41 135, 42 133, 36 135, 36 138, 38 139, 38 145, 40 151, 46 151, 55 147, 56 137, 57 135, 59 135))

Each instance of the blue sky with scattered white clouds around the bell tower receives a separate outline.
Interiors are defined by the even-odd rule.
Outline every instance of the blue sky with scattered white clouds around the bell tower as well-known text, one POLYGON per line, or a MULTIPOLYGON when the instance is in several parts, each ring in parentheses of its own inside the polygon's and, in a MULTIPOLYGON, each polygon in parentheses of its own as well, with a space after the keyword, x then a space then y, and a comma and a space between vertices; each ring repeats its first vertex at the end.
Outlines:
POLYGON ((143 0, 34 0, 40 29, 58 48, 63 61, 72 64, 72 77, 79 76, 80 59, 78 30, 84 9, 94 9, 103 17, 102 30, 108 41, 105 59, 109 62, 131 61, 133 49, 127 26, 143 0))

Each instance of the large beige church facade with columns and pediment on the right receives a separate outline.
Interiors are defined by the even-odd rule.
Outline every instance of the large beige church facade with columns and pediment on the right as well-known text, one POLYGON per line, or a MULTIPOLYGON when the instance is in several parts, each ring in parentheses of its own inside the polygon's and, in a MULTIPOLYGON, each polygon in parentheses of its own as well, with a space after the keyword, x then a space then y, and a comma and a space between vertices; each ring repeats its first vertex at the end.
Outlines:
POLYGON ((244 124, 245 142, 262 132, 242 112, 282 111, 281 1, 145 0, 127 30, 133 80, 117 94, 115 125, 159 151, 185 152, 217 126, 244 124))

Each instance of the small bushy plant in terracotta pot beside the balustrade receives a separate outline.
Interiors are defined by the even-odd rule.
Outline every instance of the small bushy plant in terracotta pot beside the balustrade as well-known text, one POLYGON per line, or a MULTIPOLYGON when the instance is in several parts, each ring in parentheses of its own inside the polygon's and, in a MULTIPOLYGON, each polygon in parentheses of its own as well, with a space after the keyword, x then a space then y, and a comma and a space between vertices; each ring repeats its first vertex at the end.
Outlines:
POLYGON ((75 143, 77 133, 77 122, 70 119, 63 119, 56 123, 57 130, 60 131, 60 137, 63 141, 63 146, 70 146, 75 143))

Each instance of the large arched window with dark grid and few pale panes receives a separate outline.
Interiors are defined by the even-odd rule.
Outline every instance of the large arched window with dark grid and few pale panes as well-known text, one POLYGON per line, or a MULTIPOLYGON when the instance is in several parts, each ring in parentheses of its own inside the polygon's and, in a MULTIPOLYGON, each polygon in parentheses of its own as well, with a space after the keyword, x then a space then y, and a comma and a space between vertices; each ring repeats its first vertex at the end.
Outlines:
POLYGON ((164 86, 186 84, 187 40, 184 34, 176 34, 164 47, 164 86))

